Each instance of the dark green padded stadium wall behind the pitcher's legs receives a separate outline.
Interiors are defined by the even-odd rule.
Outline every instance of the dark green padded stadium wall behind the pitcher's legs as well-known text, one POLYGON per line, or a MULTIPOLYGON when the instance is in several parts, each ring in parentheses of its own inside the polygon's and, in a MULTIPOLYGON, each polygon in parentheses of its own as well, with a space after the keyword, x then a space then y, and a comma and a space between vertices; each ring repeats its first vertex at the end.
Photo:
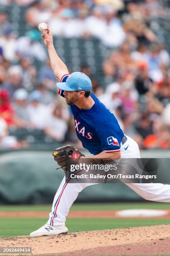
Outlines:
MULTIPOLYGON (((84 152, 87 155, 87 152, 84 152)), ((142 151, 141 156, 168 158, 170 151, 142 151)), ((51 151, 0 152, 0 204, 51 203, 64 172, 56 170, 51 151)), ((96 184, 84 189, 77 202, 143 200, 125 184, 96 184)))

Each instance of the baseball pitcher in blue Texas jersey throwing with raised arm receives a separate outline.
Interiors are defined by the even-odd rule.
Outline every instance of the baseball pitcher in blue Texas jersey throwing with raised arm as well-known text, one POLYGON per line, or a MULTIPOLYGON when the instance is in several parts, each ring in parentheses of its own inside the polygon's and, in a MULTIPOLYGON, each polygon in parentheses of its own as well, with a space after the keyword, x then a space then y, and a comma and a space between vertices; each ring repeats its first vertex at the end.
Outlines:
MULTIPOLYGON (((90 92, 92 89, 90 78, 81 72, 69 74, 66 65, 55 51, 49 28, 43 31, 42 37, 48 49, 52 70, 56 79, 60 81, 57 83, 59 94, 65 97, 72 110, 77 137, 83 147, 93 154, 88 158, 140 158, 138 144, 132 138, 125 136, 115 116, 90 92)), ((57 148, 53 152, 53 156, 62 169, 66 168, 68 158, 75 158, 78 163, 80 158, 85 157, 70 146, 57 148)), ((160 183, 126 184, 146 200, 170 202, 170 185, 160 183)), ((54 197, 49 220, 41 228, 32 232, 30 236, 67 233, 65 218, 69 209, 78 193, 90 185, 92 184, 69 183, 69 180, 65 181, 64 178, 54 197)))

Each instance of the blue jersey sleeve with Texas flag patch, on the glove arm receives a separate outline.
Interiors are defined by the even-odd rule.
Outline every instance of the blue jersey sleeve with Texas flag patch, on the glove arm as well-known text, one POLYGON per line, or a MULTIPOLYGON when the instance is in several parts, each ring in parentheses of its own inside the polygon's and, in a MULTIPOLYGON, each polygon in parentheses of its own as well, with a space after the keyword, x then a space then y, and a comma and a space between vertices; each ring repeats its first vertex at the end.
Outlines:
POLYGON ((102 144, 102 151, 111 153, 120 151, 121 130, 118 123, 104 122, 97 126, 96 133, 102 144))

